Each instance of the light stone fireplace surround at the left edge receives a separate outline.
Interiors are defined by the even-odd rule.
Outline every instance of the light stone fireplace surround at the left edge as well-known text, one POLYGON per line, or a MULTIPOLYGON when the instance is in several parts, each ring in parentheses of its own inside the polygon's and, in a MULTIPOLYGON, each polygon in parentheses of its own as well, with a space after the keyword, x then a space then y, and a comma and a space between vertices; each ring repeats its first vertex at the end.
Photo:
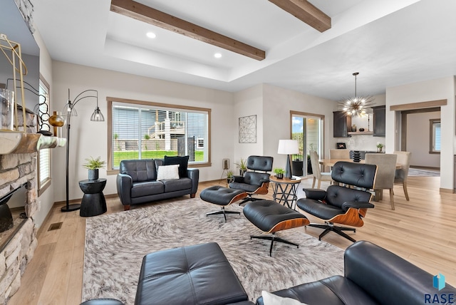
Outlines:
MULTIPOLYGON (((21 276, 38 244, 35 223, 39 210, 36 162, 40 145, 37 145, 36 139, 39 140, 41 135, 33 133, 36 132, 33 113, 26 113, 26 123, 28 133, 0 132, 2 148, 8 146, 5 143, 9 143, 11 134, 21 135, 21 142, 13 151, 0 154, 0 198, 19 187, 21 190, 25 187, 25 192, 18 191, 12 195, 19 196, 19 201, 24 202, 21 207, 11 209, 13 227, 0 232, 0 304, 6 304, 21 286, 21 276)), ((24 130, 23 125, 19 120, 21 130, 24 130)))

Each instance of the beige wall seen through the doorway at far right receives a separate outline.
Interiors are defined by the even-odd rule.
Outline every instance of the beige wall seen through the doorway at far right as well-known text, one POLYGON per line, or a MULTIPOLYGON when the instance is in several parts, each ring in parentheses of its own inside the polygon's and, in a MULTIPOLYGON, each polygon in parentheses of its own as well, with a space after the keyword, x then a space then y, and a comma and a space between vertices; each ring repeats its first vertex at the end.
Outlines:
POLYGON ((440 111, 407 115, 406 148, 412 153, 410 165, 440 167, 440 154, 429 153, 431 137, 429 120, 435 118, 440 118, 440 111))

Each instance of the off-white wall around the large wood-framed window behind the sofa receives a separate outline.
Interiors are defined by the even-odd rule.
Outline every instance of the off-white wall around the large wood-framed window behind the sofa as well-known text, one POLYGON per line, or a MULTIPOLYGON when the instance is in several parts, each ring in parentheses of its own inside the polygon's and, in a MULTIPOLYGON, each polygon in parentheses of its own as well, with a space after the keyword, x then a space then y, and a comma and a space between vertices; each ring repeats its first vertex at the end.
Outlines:
MULTIPOLYGON (((53 62, 53 80, 53 110, 60 111, 66 103, 68 88, 71 89, 71 100, 84 90, 98 90, 98 103, 105 118, 108 115, 107 96, 211 108, 212 166, 199 167, 200 181, 219 179, 222 174, 222 159, 233 155, 232 139, 235 128, 232 120, 232 93, 60 61, 53 62)), ((90 121, 94 109, 95 100, 81 100, 76 105, 78 117, 71 118, 70 200, 83 196, 78 181, 87 179, 87 170, 82 167, 84 159, 90 156, 108 159, 107 122, 90 121)), ((66 135, 66 132, 63 134, 66 135)), ((54 201, 65 200, 65 160, 66 150, 55 149, 53 166, 58 168, 58 172, 53 172, 54 201)), ((105 195, 117 193, 115 175, 106 175, 105 170, 100 170, 100 177, 108 179, 105 195)))

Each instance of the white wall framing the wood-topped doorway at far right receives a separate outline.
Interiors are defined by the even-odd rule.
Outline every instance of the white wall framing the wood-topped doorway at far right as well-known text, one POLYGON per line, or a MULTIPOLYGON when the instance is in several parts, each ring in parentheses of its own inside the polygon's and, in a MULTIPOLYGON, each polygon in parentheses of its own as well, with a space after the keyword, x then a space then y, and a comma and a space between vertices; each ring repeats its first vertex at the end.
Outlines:
MULTIPOLYGON (((441 109, 442 150, 440 152, 440 188, 453 190, 454 140, 455 140, 455 77, 410 83, 386 88, 386 152, 392 153, 398 138, 395 128, 396 113, 392 105, 420 103, 430 100, 447 100, 441 109)), ((396 148, 398 149, 398 148, 396 148)))

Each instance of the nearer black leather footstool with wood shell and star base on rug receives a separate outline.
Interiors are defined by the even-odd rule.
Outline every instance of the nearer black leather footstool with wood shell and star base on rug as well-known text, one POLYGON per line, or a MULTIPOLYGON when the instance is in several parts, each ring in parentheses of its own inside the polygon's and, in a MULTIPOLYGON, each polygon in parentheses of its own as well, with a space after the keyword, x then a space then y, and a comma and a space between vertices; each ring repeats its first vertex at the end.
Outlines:
POLYGON ((283 242, 285 244, 292 244, 299 248, 299 244, 289 242, 286 239, 276 237, 276 232, 283 229, 292 229, 309 225, 309 219, 303 214, 297 212, 289 207, 285 207, 272 200, 261 200, 256 202, 249 202, 245 207, 244 215, 249 222, 255 225, 263 232, 272 233, 272 235, 250 236, 250 239, 268 239, 271 240, 271 247, 269 247, 269 256, 272 254, 272 246, 275 242, 283 242))

